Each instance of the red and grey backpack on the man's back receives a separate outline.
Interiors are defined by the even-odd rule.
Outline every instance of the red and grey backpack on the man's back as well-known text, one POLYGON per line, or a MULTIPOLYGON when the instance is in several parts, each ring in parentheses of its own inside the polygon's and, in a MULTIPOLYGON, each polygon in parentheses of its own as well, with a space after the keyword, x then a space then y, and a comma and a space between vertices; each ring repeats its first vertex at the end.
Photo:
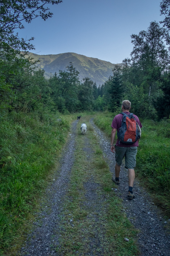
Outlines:
POLYGON ((132 113, 129 115, 125 113, 120 114, 123 115, 123 119, 120 129, 117 131, 119 144, 120 141, 126 144, 133 144, 137 139, 141 138, 141 129, 132 113))

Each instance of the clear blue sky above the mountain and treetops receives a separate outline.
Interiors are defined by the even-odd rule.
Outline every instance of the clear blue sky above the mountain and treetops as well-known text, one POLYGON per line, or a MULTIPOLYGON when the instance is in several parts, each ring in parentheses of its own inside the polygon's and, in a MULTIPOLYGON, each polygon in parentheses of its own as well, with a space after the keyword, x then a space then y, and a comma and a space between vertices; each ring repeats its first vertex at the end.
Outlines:
POLYGON ((63 0, 49 7, 52 18, 37 18, 18 31, 24 39, 35 37, 32 52, 75 52, 111 63, 130 57, 131 34, 163 19, 160 0, 63 0))

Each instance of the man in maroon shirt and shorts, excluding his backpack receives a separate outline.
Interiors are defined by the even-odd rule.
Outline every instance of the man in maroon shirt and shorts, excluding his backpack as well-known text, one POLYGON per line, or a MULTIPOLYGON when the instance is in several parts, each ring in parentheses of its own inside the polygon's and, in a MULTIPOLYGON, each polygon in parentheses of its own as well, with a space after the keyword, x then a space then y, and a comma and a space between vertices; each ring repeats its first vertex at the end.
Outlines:
MULTIPOLYGON (((126 113, 127 115, 130 114, 129 110, 131 107, 130 101, 123 101, 122 102, 122 112, 126 113)), ((139 121, 139 118, 136 115, 133 115, 135 117, 136 123, 142 128, 141 122, 139 121)), ((117 185, 119 185, 119 172, 120 172, 120 166, 122 164, 123 157, 125 156, 125 168, 129 171, 129 191, 128 191, 128 198, 132 199, 135 196, 133 195, 133 182, 135 179, 135 172, 134 168, 136 167, 136 154, 137 154, 137 147, 139 146, 138 142, 139 139, 134 142, 133 144, 126 144, 119 139, 116 141, 116 145, 113 145, 116 130, 119 131, 119 128, 121 127, 123 115, 119 114, 116 115, 113 119, 113 122, 111 124, 112 132, 111 132, 111 152, 115 153, 115 159, 116 159, 116 165, 115 165, 115 178, 112 177, 112 181, 115 182, 117 185)))

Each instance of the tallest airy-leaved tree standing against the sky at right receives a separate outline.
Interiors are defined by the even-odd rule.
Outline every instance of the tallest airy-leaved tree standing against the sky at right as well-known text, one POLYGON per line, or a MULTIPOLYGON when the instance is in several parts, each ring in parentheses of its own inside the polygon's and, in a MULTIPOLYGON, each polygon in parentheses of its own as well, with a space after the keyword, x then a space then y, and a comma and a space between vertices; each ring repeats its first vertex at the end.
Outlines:
POLYGON ((131 61, 134 69, 134 80, 137 86, 142 84, 144 92, 150 97, 157 87, 161 73, 169 65, 169 55, 165 40, 169 40, 169 32, 153 21, 147 31, 139 35, 132 34, 131 61))

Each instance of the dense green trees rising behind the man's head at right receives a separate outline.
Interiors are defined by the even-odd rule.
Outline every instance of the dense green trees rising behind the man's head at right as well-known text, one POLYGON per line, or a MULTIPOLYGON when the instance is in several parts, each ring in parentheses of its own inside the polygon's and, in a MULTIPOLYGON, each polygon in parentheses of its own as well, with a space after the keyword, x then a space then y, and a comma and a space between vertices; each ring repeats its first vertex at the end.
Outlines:
POLYGON ((114 112, 122 100, 131 101, 131 112, 156 120, 169 116, 169 32, 153 21, 146 31, 132 34, 131 59, 115 65, 104 84, 105 109, 114 112))

